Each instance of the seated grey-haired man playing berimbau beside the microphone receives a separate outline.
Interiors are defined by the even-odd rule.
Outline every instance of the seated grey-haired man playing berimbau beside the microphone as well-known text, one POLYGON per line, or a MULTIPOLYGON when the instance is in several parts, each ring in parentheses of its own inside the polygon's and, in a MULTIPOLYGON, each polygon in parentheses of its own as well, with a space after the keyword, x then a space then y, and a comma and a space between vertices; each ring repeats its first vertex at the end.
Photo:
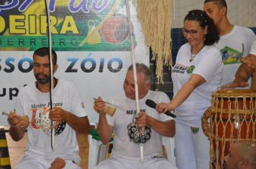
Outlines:
POLYGON ((96 168, 175 168, 172 163, 163 158, 162 136, 173 137, 175 135, 175 123, 172 117, 158 114, 153 108, 145 104, 147 99, 155 102, 169 102, 168 96, 163 92, 150 90, 151 73, 145 64, 136 64, 137 84, 139 92, 140 113, 134 119, 137 127, 150 130, 150 139, 144 143, 144 161, 140 161, 140 146, 130 140, 127 126, 136 115, 135 89, 132 66, 127 71, 124 79, 124 97, 112 97, 109 102, 118 105, 116 112, 111 117, 106 115, 106 104, 99 97, 94 102, 94 107, 99 112, 98 132, 103 143, 108 143, 114 132, 114 149, 111 158, 101 162, 96 168))

